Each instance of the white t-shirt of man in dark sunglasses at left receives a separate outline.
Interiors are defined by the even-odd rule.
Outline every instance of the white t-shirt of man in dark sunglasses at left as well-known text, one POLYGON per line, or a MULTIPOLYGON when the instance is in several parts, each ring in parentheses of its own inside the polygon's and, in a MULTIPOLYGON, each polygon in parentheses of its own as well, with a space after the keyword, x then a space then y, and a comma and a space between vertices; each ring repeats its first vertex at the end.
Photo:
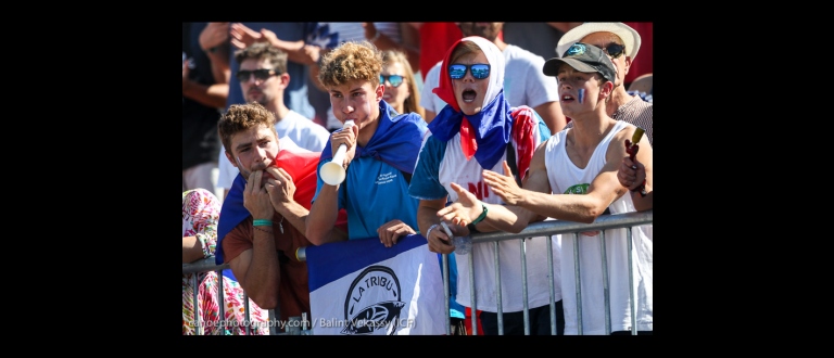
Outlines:
MULTIPOLYGON (((298 148, 303 151, 321 152, 330 139, 330 132, 325 127, 292 110, 283 119, 275 124, 275 130, 278 132, 278 143, 281 149, 289 145, 288 149, 298 148)), ((217 188, 231 189, 231 183, 235 182, 235 177, 240 170, 226 158, 225 149, 220 150, 217 163, 220 171, 217 178, 217 188)))

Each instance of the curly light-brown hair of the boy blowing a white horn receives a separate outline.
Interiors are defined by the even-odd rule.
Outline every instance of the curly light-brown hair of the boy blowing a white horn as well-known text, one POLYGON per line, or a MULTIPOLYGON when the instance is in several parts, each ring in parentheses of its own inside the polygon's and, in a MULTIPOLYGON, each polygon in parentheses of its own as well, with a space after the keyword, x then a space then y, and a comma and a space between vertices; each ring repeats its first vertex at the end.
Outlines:
POLYGON ((382 72, 382 53, 368 41, 348 41, 328 52, 321 59, 318 80, 330 88, 354 80, 366 80, 379 86, 382 72))

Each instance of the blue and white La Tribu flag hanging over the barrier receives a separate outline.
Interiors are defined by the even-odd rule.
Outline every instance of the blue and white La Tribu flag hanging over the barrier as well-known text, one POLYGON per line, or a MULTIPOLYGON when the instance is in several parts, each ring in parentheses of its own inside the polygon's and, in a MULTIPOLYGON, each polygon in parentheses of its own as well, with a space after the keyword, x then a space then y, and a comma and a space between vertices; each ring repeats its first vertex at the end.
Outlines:
POLYGON ((378 238, 307 246, 314 335, 443 335, 445 296, 426 238, 378 238))

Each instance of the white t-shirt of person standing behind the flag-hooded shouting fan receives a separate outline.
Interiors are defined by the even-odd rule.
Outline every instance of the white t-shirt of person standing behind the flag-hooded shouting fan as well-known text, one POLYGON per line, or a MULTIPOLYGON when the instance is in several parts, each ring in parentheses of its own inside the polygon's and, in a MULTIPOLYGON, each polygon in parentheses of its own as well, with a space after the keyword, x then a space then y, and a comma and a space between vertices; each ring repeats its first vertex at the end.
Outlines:
MULTIPOLYGON (((527 105, 532 108, 547 102, 559 101, 559 86, 556 77, 545 76, 542 72, 544 57, 517 46, 507 44, 502 51, 504 67, 504 98, 509 105, 527 105)), ((440 86, 440 66, 434 64, 426 74, 426 82, 420 92, 420 105, 426 111, 439 114, 446 106, 431 90, 440 86)))

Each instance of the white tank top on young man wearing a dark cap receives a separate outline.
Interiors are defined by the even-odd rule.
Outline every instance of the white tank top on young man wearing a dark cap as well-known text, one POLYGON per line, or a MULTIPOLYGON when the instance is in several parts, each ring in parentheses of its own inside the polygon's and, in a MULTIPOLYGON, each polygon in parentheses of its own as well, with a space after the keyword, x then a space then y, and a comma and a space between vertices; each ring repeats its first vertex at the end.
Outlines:
MULTIPOLYGON (((568 131, 563 130, 547 140, 545 166, 551 189, 555 194, 585 194, 589 184, 606 164, 605 154, 614 136, 632 126, 617 120, 614 128, 596 146, 584 168, 577 167, 565 150, 568 131)), ((618 143, 619 145, 619 143, 618 143)), ((635 212, 631 194, 622 195, 609 206, 611 214, 635 212)), ((652 225, 632 229, 632 270, 639 331, 653 330, 653 232, 652 225)), ((629 292, 629 246, 626 229, 605 231, 605 250, 610 292, 611 332, 631 330, 631 297, 629 292)), ((605 295, 603 291, 602 246, 599 235, 579 235, 579 260, 582 281, 582 333, 605 334, 605 295)), ((565 310, 565 334, 578 334, 577 285, 574 280, 574 236, 561 238, 561 294, 565 310)))

